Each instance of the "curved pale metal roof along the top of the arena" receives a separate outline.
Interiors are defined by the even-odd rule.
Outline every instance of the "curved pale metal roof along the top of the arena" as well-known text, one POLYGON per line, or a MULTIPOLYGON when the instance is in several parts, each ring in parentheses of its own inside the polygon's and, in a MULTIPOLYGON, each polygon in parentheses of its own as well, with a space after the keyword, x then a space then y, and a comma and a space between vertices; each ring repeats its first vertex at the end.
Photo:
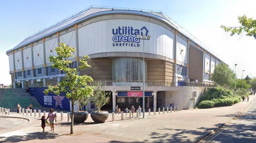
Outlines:
POLYGON ((86 19, 89 19, 94 16, 102 15, 102 14, 137 14, 137 15, 144 15, 149 17, 154 17, 159 20, 165 21, 169 25, 173 27, 173 29, 176 29, 180 34, 186 36, 188 39, 193 41, 195 44, 202 47, 204 50, 208 51, 218 59, 219 56, 214 53, 210 48, 205 46, 203 42, 199 41, 195 36, 190 34, 190 32, 183 29, 180 25, 178 25, 176 22, 174 22, 170 17, 165 15, 162 11, 157 10, 143 10, 143 9, 130 9, 130 8, 122 8, 122 7, 103 7, 103 6, 90 6, 87 9, 84 9, 74 15, 71 15, 67 17, 66 19, 57 22, 56 24, 47 27, 44 30, 41 30, 29 37, 26 37, 22 42, 20 42, 17 46, 12 48, 11 50, 6 51, 6 53, 11 52, 12 50, 15 50, 17 48, 20 48, 22 46, 25 46, 27 44, 30 44, 34 41, 37 41, 39 39, 42 39, 43 37, 52 35, 60 30, 66 29, 74 24, 77 24, 81 21, 84 21, 86 19))

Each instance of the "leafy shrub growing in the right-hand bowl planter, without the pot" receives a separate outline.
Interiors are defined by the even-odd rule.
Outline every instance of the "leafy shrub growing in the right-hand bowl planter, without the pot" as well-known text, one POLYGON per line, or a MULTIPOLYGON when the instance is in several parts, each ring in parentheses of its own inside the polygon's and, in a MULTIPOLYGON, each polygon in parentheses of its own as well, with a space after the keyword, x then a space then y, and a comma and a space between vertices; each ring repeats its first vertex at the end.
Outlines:
POLYGON ((101 108, 108 103, 111 93, 106 91, 106 87, 101 82, 96 82, 94 86, 92 102, 97 106, 98 111, 101 111, 101 108))

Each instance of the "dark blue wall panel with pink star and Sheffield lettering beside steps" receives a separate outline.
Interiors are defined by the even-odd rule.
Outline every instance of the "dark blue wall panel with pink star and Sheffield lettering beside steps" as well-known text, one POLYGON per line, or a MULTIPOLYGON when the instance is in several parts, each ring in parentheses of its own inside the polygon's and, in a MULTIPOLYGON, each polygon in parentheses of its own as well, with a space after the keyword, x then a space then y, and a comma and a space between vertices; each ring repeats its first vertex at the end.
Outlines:
POLYGON ((46 88, 47 87, 29 87, 29 93, 36 97, 40 105, 43 107, 70 111, 70 102, 68 98, 65 97, 64 93, 61 93, 60 96, 56 96, 52 93, 45 95, 43 91, 46 88))

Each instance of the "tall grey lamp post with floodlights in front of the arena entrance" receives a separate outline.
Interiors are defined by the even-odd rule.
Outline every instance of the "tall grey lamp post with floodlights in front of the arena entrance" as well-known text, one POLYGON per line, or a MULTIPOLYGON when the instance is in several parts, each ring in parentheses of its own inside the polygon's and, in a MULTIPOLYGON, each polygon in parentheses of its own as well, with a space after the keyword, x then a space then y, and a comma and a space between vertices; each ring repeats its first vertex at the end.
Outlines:
POLYGON ((144 52, 144 40, 150 40, 150 35, 148 35, 148 37, 146 38, 146 35, 143 35, 142 37, 140 37, 140 35, 137 35, 138 39, 143 40, 143 118, 145 118, 145 52, 144 52))

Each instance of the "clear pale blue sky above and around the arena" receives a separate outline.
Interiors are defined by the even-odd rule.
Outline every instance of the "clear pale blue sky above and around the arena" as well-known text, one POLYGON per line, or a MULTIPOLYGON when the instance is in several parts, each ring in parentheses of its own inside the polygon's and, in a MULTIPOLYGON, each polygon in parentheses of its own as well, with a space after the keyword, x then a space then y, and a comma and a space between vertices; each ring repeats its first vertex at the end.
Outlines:
POLYGON ((237 26, 237 16, 256 19, 253 0, 12 0, 0 2, 0 83, 11 83, 8 56, 5 52, 25 39, 90 5, 162 10, 234 68, 241 77, 256 76, 253 65, 256 40, 253 37, 229 36, 220 25, 237 26), (239 39, 239 40, 238 40, 239 39))

